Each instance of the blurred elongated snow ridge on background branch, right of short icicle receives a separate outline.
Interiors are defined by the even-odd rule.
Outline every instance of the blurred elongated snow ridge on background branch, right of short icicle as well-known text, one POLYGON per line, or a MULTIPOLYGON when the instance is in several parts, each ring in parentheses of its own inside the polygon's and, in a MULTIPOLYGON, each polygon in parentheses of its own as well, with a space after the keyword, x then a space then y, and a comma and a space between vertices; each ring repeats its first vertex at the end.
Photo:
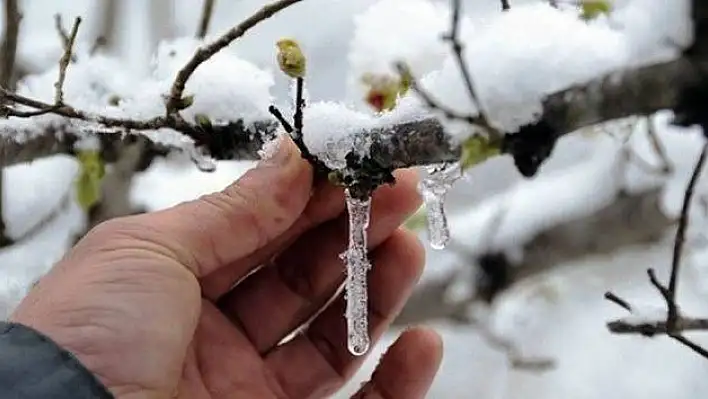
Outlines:
POLYGON ((538 232, 594 213, 623 187, 623 156, 617 148, 542 179, 523 180, 450 220, 451 236, 470 254, 523 246, 538 232))

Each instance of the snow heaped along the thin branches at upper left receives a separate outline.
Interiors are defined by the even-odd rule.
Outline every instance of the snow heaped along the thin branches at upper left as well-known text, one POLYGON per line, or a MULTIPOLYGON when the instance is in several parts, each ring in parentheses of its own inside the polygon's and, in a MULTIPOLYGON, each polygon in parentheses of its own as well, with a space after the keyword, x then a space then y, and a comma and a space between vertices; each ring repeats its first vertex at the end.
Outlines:
MULTIPOLYGON (((69 65, 64 85, 65 103, 92 115, 146 120, 165 113, 164 96, 169 93, 177 72, 203 43, 194 39, 176 39, 160 45, 153 60, 152 74, 144 78, 131 74, 121 60, 101 54, 77 52, 77 62, 69 65)), ((58 65, 20 82, 18 93, 52 104, 58 65)), ((268 106, 273 98, 273 77, 227 50, 202 63, 187 81, 185 96, 193 104, 181 112, 191 121, 202 114, 212 121, 242 119, 246 124, 269 119, 268 106)), ((11 117, 0 121, 5 134, 18 140, 44 134, 62 127, 76 132, 101 132, 97 123, 67 121, 56 115, 31 119, 11 117), (20 132, 20 134, 18 134, 20 132)), ((154 141, 183 147, 191 140, 170 129, 143 132, 154 141)))

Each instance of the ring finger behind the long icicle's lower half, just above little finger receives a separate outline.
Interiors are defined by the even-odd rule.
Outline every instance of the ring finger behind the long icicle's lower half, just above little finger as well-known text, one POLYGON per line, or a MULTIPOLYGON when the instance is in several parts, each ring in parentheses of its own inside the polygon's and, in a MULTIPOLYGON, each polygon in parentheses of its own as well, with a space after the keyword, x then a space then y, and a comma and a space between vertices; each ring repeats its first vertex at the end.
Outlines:
MULTIPOLYGON (((425 254, 417 238, 397 231, 373 253, 369 274, 369 332, 372 345, 398 314, 423 270, 425 254)), ((339 389, 363 357, 347 350, 343 295, 318 315, 307 330, 266 356, 290 397, 325 396, 339 389)))

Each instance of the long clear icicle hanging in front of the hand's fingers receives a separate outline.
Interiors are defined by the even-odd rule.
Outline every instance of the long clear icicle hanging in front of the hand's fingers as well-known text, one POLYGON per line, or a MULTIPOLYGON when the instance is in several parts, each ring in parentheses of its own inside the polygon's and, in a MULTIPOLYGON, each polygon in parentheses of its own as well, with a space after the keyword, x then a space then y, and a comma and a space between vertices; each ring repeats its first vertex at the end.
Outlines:
POLYGON ((353 198, 349 189, 344 191, 349 213, 349 246, 339 257, 347 267, 345 299, 347 309, 347 348, 355 356, 369 350, 368 296, 366 275, 371 264, 367 259, 366 229, 369 227, 371 197, 353 198))

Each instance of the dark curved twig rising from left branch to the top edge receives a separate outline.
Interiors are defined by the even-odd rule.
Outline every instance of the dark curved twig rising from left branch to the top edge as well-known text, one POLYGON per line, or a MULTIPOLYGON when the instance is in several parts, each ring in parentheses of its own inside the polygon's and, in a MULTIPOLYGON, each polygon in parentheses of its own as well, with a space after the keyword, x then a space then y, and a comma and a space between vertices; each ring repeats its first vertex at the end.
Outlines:
POLYGON ((179 70, 177 77, 172 83, 172 88, 170 89, 170 95, 165 102, 165 110, 167 115, 174 115, 180 110, 180 105, 183 103, 182 95, 184 93, 185 85, 187 80, 192 76, 194 71, 197 70, 199 65, 207 61, 214 54, 218 53, 226 46, 231 44, 234 40, 243 36, 249 29, 253 28, 260 22, 272 17, 281 10, 284 10, 293 4, 299 3, 302 0, 278 0, 274 3, 268 4, 258 10, 255 14, 251 15, 245 19, 240 24, 229 29, 224 35, 216 39, 214 42, 200 47, 192 56, 192 58, 179 70))

